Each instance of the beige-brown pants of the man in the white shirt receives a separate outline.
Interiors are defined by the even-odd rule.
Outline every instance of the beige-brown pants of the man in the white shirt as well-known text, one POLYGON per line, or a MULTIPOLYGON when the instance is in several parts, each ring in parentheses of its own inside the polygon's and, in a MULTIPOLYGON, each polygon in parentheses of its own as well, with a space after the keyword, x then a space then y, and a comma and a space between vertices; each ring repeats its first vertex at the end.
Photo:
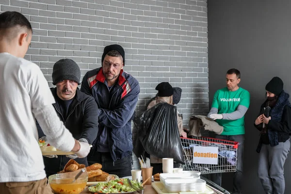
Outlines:
POLYGON ((29 182, 0 182, 1 194, 53 194, 48 179, 29 182))

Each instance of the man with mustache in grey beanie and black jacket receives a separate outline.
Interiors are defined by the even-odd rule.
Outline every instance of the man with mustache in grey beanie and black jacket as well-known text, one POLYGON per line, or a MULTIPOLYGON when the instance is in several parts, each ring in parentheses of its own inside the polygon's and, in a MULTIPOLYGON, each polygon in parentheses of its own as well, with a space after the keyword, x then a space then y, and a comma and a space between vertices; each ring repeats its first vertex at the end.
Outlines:
MULTIPOLYGON (((78 88, 81 79, 79 66, 71 59, 61 59, 53 65, 51 76, 52 83, 56 85, 55 88, 51 88, 56 101, 53 106, 59 118, 74 138, 92 144, 98 132, 98 107, 94 97, 81 92, 78 88)), ((39 126, 38 135, 40 139, 46 139, 39 126)), ((70 159, 88 166, 87 158, 78 158, 75 154, 45 156, 47 177, 64 170, 65 164, 70 159)))

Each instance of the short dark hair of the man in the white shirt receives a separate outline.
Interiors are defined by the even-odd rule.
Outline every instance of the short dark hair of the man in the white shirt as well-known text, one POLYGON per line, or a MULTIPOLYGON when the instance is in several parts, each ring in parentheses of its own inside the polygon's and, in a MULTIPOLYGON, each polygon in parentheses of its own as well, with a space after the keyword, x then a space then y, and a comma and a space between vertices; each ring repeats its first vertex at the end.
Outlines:
MULTIPOLYGON (((28 19, 20 14, 19 12, 3 12, 0 14, 0 34, 5 34, 6 30, 14 27, 20 27, 20 28, 25 28, 28 32, 32 33, 32 25, 28 21, 28 19)), ((16 36, 16 31, 13 34, 9 34, 10 38, 14 38, 16 36)))

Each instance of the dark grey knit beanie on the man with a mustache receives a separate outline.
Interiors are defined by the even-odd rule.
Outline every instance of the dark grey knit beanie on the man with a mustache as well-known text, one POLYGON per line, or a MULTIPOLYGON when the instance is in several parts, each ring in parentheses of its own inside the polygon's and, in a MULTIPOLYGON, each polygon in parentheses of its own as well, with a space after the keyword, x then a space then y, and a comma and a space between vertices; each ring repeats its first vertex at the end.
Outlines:
POLYGON ((53 65, 52 84, 56 85, 62 80, 73 80, 80 85, 81 70, 80 67, 71 59, 61 59, 53 65))

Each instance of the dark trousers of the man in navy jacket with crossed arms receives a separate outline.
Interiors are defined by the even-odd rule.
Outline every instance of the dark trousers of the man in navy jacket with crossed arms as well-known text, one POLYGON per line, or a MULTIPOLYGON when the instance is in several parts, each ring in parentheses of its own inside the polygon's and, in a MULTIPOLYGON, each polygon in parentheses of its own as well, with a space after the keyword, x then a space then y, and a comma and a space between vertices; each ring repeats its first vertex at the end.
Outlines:
POLYGON ((95 152, 88 158, 88 164, 102 164, 102 171, 117 175, 119 178, 131 176, 131 156, 113 162, 110 152, 95 152))

